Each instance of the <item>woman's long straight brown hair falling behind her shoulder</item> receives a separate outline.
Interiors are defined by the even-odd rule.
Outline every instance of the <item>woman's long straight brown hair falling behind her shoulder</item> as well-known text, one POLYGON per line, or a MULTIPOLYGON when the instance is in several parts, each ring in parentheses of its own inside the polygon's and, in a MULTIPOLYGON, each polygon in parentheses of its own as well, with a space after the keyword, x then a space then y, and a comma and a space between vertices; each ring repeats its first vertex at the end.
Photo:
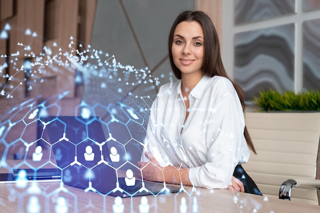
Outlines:
MULTIPOLYGON (((184 11, 178 15, 178 17, 173 22, 173 25, 170 30, 169 39, 168 39, 168 50, 169 50, 169 59, 173 74, 177 79, 181 79, 181 72, 178 67, 173 62, 172 56, 172 43, 173 43, 173 34, 177 25, 182 21, 197 21, 200 23, 204 33, 204 60, 203 60, 203 75, 208 77, 222 76, 229 79, 233 86, 235 87, 240 102, 242 106, 243 113, 245 113, 244 105, 244 92, 242 88, 232 81, 226 74, 220 55, 220 44, 217 31, 210 19, 210 17, 202 11, 184 11)), ((253 141, 249 135, 249 132, 244 127, 244 137, 246 139, 248 147, 255 153, 256 149, 254 147, 253 141)))

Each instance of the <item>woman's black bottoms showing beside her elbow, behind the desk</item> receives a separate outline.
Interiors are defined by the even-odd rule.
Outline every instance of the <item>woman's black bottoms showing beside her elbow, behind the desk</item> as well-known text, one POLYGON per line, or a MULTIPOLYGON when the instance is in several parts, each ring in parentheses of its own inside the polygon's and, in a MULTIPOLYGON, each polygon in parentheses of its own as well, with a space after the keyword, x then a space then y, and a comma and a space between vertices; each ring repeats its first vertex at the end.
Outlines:
POLYGON ((233 176, 243 183, 245 193, 262 195, 255 181, 244 171, 240 164, 236 166, 233 176))

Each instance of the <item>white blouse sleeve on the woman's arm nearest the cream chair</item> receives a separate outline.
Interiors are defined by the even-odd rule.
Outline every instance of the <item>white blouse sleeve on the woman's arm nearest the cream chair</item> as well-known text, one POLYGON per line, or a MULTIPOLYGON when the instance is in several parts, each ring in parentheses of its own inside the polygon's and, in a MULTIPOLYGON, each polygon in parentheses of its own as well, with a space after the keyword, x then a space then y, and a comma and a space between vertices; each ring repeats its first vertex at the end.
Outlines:
POLYGON ((207 125, 207 162, 191 168, 189 179, 194 186, 226 188, 236 165, 249 156, 244 132, 244 115, 236 91, 223 93, 211 109, 207 125))

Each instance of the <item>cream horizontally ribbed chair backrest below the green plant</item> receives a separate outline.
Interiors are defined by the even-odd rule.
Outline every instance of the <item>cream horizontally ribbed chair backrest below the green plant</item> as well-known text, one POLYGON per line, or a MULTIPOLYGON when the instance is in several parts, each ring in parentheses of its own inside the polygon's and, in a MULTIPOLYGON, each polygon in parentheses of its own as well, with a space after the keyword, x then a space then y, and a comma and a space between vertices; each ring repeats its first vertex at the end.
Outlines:
MULTIPOLYGON (((278 198, 289 177, 315 179, 320 112, 247 112, 246 125, 257 155, 252 153, 243 168, 263 195, 278 198)), ((295 201, 318 205, 316 188, 293 188, 295 201)))

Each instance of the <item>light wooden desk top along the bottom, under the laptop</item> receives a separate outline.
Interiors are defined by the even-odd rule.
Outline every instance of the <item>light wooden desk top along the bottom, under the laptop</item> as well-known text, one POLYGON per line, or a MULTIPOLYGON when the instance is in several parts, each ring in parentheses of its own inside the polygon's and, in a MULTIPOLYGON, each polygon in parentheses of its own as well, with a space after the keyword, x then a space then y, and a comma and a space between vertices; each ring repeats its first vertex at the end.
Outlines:
MULTIPOLYGON (((85 193, 80 188, 62 185, 59 182, 37 183, 40 193, 35 194, 36 188, 28 190, 32 183, 25 188, 17 188, 13 184, 0 184, 0 212, 28 212, 29 198, 36 195, 41 205, 41 212, 55 212, 58 197, 67 200, 68 212, 113 212, 112 204, 115 197, 100 195, 94 192, 85 193)), ((147 196, 151 212, 180 212, 181 198, 185 197, 188 212, 192 212, 192 201, 198 196, 198 212, 320 212, 316 205, 294 203, 286 200, 268 198, 246 193, 236 193, 227 190, 207 190, 186 187, 188 193, 174 193, 168 195, 147 196), (236 202, 235 202, 236 201, 236 202), (256 209, 256 211, 255 211, 256 209)), ((124 212, 139 212, 141 197, 123 198, 124 212)))

